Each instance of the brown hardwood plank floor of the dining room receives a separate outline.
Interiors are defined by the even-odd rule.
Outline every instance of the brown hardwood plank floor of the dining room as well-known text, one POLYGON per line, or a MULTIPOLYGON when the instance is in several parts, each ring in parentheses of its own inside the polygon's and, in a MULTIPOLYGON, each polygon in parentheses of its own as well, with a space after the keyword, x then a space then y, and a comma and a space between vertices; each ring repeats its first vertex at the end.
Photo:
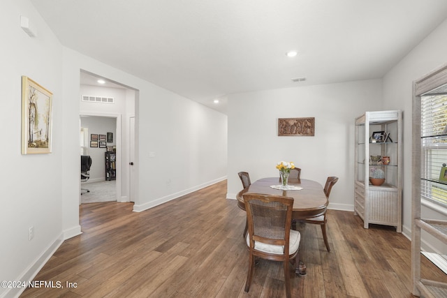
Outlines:
MULTIPOLYGON (((245 212, 225 196, 223 181, 140 213, 131 203, 82 204, 83 234, 64 241, 35 278, 64 288, 21 297, 285 297, 281 262, 267 260, 244 292, 245 212)), ((307 275, 292 272, 292 296, 413 297, 410 241, 394 228, 364 229, 352 212, 328 212, 330 253, 319 225, 298 226, 307 275)), ((423 264, 424 277, 446 281, 423 264)))

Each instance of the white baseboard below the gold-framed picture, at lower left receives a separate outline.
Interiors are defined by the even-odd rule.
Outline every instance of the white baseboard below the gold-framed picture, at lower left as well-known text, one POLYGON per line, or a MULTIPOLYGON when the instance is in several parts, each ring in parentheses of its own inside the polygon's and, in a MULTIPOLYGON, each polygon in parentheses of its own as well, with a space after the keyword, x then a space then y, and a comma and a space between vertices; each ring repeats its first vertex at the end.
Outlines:
MULTIPOLYGON (((64 233, 60 234, 59 237, 48 246, 45 251, 31 264, 24 273, 21 274, 16 281, 33 281, 36 275, 41 271, 43 266, 50 260, 52 255, 57 251, 57 248, 61 246, 64 242, 64 233)), ((26 288, 9 288, 6 292, 1 295, 1 297, 19 297, 26 288)))

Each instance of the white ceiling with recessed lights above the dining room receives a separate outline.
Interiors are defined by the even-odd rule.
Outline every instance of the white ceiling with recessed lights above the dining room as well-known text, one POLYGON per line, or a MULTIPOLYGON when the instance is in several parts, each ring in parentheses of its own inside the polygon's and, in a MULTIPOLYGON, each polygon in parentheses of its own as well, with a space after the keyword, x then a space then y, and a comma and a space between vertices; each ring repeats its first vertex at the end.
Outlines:
POLYGON ((66 47, 221 112, 226 94, 382 77, 447 17, 445 0, 31 2, 66 47))

